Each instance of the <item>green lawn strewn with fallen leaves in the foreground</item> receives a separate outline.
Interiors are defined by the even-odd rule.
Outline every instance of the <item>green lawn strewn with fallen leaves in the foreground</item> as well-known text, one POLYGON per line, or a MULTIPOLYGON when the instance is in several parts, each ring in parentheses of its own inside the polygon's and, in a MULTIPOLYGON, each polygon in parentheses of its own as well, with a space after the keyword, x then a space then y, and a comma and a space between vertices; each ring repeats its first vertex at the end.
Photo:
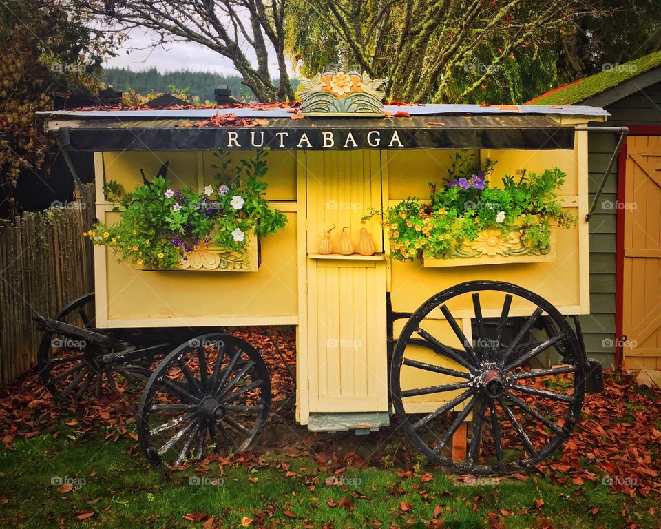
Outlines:
POLYGON ((147 469, 132 439, 104 442, 112 426, 100 422, 95 431, 80 434, 63 424, 56 439, 42 433, 16 440, 13 451, 0 448, 1 527, 659 526, 657 496, 630 498, 599 481, 563 488, 537 476, 465 485, 421 460, 415 473, 404 473, 376 466, 328 468, 322 457, 269 453, 167 476, 147 469), (342 477, 333 478, 333 470, 342 477), (329 486, 329 478, 337 484, 329 486), (59 487, 62 481, 77 486, 59 487), (76 518, 85 513, 86 519, 76 518))

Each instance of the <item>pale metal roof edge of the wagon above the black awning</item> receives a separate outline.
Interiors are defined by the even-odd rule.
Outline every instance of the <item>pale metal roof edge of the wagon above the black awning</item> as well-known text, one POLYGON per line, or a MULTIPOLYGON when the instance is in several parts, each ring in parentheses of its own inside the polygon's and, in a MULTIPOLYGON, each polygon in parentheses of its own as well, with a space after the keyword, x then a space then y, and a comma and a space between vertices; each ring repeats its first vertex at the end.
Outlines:
MULTIPOLYGON (((541 105, 386 105, 386 112, 395 114, 406 112, 410 116, 445 116, 448 114, 490 115, 518 114, 544 116, 608 116, 608 112, 598 107, 586 106, 541 106, 541 105)), ((185 109, 145 109, 145 110, 56 110, 37 112, 48 116, 70 118, 121 118, 121 119, 204 119, 216 114, 235 114, 249 118, 288 118, 291 112, 286 108, 259 109, 246 107, 214 107, 185 109)), ((314 118, 316 119, 316 118, 314 118)), ((363 119, 359 116, 346 119, 363 119)))

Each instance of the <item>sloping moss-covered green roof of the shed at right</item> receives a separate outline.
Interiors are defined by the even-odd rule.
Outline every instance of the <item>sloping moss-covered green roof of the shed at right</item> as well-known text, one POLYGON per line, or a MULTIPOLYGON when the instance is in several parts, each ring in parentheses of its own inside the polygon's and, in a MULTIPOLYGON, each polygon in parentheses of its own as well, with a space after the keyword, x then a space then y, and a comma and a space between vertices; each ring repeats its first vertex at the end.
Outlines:
POLYGON ((590 103, 595 105, 607 105, 619 98, 625 97, 633 92, 642 90, 644 87, 658 82, 661 79, 661 51, 654 52, 639 59, 624 64, 609 65, 604 72, 578 79, 572 83, 559 86, 549 90, 541 96, 531 99, 526 105, 575 105, 576 103, 590 103), (659 70, 653 72, 653 70, 659 70), (657 73, 658 75, 651 75, 657 73), (646 75, 647 74, 647 75, 646 75), (631 83, 630 90, 622 90, 620 93, 611 92, 614 88, 645 76, 644 81, 631 83), (605 94, 604 97, 596 99, 596 96, 605 94))

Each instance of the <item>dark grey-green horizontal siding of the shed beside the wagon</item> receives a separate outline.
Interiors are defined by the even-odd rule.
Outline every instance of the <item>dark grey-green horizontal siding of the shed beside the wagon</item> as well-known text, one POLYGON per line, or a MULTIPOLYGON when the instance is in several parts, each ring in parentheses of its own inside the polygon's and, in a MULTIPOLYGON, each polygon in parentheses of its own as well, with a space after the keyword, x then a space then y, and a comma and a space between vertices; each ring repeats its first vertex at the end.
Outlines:
MULTIPOLYGON (((585 101, 589 105, 589 99, 585 101)), ((607 123, 594 125, 661 125, 661 83, 644 88, 636 94, 605 107, 611 114, 607 123)), ((589 203, 592 204, 611 154, 616 147, 614 134, 591 134, 589 149, 589 203)), ((612 366, 615 335, 615 267, 616 267, 616 204, 618 187, 617 164, 599 199, 590 220, 590 309, 581 316, 587 354, 612 366)))

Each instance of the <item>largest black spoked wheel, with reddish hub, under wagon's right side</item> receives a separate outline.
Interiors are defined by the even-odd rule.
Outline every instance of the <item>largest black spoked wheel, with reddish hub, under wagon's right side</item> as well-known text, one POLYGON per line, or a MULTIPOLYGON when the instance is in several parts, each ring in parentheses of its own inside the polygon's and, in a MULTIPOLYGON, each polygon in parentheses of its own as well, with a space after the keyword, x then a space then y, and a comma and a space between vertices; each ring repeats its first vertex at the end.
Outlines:
POLYGON ((549 302, 510 283, 466 282, 434 295, 406 323, 391 397, 406 436, 432 461, 507 474, 565 442, 583 405, 585 369, 576 334, 549 302), (467 420, 465 456, 453 458, 452 437, 467 420))

